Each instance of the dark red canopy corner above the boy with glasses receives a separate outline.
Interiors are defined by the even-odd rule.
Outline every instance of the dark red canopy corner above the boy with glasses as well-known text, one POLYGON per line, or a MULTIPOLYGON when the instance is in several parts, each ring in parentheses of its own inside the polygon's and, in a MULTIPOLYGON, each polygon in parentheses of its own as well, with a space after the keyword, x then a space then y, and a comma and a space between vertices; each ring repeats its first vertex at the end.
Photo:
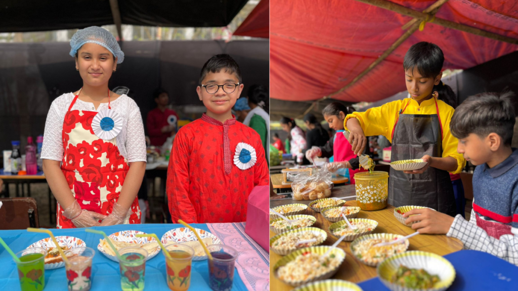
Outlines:
POLYGON ((268 38, 270 32, 270 3, 261 0, 247 19, 239 25, 234 35, 268 38))

